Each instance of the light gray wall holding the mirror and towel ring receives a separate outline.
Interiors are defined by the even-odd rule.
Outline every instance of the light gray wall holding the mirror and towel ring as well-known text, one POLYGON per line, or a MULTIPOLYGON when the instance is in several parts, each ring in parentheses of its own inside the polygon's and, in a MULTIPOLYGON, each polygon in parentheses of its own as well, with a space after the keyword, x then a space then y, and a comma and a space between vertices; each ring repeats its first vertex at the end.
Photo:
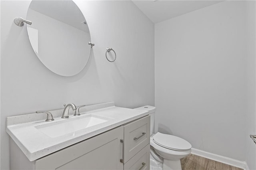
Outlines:
POLYGON ((154 105, 154 24, 131 1, 77 1, 96 45, 85 69, 62 77, 36 57, 14 18, 26 18, 30 1, 1 1, 1 169, 9 169, 7 116, 115 101, 154 105), (117 59, 105 58, 107 47, 117 59))

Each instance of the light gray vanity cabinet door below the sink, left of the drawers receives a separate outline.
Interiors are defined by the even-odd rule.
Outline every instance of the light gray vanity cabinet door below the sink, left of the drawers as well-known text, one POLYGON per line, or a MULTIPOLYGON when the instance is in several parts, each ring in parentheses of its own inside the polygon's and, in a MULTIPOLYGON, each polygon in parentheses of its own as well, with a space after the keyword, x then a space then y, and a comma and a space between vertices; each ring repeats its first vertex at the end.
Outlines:
POLYGON ((36 170, 121 170, 124 127, 94 136, 36 160, 36 170))

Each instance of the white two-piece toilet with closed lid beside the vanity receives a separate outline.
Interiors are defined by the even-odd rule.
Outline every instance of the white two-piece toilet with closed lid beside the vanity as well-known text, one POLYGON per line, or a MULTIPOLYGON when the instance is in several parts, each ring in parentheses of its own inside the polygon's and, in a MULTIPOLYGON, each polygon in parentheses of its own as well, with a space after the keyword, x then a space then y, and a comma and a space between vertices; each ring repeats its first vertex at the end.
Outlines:
POLYGON ((150 161, 162 162, 163 170, 181 170, 180 159, 191 153, 191 144, 170 134, 153 134, 156 107, 143 106, 136 109, 146 110, 150 115, 150 157, 154 158, 150 161))

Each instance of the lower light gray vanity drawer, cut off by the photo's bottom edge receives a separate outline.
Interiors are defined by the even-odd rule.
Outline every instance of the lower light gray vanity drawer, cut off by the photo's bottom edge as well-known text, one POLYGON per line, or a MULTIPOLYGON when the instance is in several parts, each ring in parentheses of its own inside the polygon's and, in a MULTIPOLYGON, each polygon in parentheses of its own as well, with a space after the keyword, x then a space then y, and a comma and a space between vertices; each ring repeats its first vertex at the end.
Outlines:
POLYGON ((124 170, 149 170, 150 168, 150 144, 132 157, 126 164, 124 170))

